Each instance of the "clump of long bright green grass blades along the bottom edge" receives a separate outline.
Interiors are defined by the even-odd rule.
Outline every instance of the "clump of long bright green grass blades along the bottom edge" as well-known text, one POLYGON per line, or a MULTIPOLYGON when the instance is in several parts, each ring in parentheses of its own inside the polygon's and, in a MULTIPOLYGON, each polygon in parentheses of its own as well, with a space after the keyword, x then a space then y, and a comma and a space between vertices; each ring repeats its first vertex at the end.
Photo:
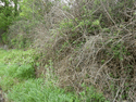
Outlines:
POLYGON ((28 79, 14 86, 8 98, 14 102, 79 102, 75 94, 64 93, 51 84, 44 84, 42 79, 28 79))

